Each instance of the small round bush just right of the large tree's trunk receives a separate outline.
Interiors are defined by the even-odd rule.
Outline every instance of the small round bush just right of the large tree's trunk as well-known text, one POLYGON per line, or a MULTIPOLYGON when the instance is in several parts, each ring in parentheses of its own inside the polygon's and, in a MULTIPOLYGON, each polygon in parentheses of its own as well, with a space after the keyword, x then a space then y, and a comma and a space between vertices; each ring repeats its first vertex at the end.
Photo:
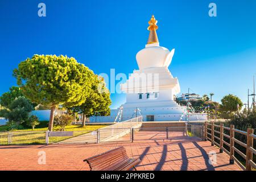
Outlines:
POLYGON ((65 131, 65 127, 71 125, 74 118, 68 114, 55 115, 53 126, 58 127, 60 131, 65 131))

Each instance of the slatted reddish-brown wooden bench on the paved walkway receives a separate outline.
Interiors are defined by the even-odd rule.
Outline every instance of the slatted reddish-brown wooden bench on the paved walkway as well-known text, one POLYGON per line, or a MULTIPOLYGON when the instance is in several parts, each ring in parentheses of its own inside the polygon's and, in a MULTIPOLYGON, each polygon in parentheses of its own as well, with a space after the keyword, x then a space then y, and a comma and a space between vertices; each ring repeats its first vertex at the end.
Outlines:
POLYGON ((141 162, 140 159, 130 159, 123 147, 118 147, 102 154, 85 159, 91 171, 128 171, 141 162))

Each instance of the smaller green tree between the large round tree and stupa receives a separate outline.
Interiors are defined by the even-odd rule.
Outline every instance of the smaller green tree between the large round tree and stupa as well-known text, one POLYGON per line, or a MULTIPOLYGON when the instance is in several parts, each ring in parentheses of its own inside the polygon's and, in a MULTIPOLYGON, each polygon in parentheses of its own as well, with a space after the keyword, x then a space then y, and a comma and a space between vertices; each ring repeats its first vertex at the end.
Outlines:
POLYGON ((104 78, 97 75, 92 78, 92 88, 90 88, 90 96, 84 103, 70 109, 82 114, 82 126, 85 126, 85 118, 95 113, 100 115, 109 115, 111 105, 110 93, 106 88, 104 78))

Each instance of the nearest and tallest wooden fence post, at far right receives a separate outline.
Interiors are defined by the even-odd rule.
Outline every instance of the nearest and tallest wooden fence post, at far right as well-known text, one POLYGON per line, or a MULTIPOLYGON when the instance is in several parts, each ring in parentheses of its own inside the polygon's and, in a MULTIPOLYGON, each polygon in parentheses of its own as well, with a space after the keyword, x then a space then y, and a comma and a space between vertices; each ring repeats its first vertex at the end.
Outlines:
POLYGON ((247 129, 247 147, 246 147, 246 165, 245 170, 251 171, 253 168, 249 160, 253 160, 253 151, 250 150, 250 147, 253 147, 253 137, 250 136, 253 134, 253 129, 247 129))

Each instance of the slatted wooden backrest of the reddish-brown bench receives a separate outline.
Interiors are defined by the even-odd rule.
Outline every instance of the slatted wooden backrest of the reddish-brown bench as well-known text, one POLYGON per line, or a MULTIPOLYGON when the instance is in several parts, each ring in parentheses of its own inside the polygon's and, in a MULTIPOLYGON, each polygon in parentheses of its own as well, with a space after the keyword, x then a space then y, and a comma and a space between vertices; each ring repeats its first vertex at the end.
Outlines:
POLYGON ((104 152, 102 154, 93 156, 92 158, 85 159, 90 169, 93 171, 100 170, 111 170, 112 166, 122 162, 123 160, 128 159, 126 150, 123 147, 114 148, 113 150, 104 152))

